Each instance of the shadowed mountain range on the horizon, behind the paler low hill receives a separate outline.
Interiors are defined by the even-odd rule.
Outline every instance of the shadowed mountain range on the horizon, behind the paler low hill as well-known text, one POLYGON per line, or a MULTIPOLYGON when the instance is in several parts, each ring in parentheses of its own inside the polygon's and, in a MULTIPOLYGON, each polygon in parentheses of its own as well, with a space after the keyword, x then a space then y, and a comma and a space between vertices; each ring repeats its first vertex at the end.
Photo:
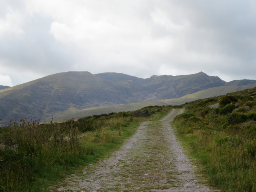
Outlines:
POLYGON ((204 89, 256 83, 225 82, 203 72, 138 78, 122 73, 64 72, 0 90, 0 119, 42 119, 88 108, 180 98, 204 89))

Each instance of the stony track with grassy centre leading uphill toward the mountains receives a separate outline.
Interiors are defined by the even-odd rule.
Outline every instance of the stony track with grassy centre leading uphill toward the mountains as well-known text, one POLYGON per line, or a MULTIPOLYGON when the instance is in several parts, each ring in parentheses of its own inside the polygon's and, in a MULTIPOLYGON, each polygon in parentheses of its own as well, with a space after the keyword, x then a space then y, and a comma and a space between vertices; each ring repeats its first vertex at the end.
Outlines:
POLYGON ((192 165, 173 134, 170 122, 183 113, 173 109, 161 121, 144 122, 121 150, 84 174, 71 175, 54 191, 218 191, 199 184, 192 165))

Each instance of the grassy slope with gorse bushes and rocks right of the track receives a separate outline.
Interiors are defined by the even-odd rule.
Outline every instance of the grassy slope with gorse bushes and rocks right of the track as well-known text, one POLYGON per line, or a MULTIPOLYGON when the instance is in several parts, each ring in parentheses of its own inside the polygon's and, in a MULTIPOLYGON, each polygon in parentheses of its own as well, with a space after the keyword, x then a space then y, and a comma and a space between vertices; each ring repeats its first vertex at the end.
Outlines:
POLYGON ((231 99, 218 108, 210 106, 231 96, 193 101, 174 119, 179 138, 204 167, 201 172, 223 191, 256 191, 255 92, 232 93, 237 102, 231 99))

